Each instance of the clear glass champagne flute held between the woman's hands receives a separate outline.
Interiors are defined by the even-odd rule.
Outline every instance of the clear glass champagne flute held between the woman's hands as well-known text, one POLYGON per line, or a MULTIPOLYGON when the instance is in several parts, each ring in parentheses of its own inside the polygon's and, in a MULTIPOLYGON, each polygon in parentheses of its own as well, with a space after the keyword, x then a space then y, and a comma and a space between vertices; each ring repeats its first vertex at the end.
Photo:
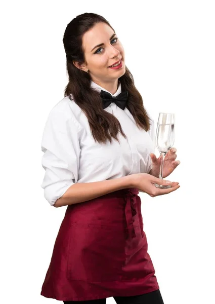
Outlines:
MULTIPOLYGON (((156 130, 156 146, 161 156, 159 178, 163 179, 163 163, 165 155, 173 146, 175 141, 175 114, 159 113, 157 130, 156 130)), ((157 188, 170 188, 170 185, 154 184, 157 188)))

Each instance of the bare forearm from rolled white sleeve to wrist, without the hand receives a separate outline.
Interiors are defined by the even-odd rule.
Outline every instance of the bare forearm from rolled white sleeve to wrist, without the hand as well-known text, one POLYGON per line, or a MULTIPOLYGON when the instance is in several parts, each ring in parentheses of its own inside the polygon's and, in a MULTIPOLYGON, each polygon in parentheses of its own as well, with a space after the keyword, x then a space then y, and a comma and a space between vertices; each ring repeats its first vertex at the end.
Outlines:
POLYGON ((75 183, 55 202, 54 207, 82 203, 117 190, 135 187, 133 175, 95 182, 75 183))

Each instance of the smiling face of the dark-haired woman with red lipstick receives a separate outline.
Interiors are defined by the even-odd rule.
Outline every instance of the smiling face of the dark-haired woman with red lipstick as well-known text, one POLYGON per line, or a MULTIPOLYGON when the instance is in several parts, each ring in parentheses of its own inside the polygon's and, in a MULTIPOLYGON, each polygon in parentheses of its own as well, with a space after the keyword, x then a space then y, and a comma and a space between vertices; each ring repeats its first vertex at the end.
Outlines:
POLYGON ((82 69, 89 70, 93 81, 115 82, 125 73, 124 49, 117 38, 112 28, 104 22, 97 23, 83 35, 85 64, 82 69), (100 44, 103 45, 97 46, 100 44), (109 67, 120 60, 120 68, 109 67))

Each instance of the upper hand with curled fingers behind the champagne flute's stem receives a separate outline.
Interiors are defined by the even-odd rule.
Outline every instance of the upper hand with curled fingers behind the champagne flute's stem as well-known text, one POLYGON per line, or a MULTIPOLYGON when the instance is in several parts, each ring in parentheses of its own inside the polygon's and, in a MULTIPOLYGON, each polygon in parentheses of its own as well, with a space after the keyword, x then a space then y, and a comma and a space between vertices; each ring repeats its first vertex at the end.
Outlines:
MULTIPOLYGON (((180 161, 176 161, 177 158, 176 151, 177 151, 176 148, 171 148, 170 150, 168 150, 168 152, 165 155, 164 163, 163 163, 163 178, 171 174, 176 169, 176 167, 178 167, 180 164, 180 161)), ((156 156, 153 153, 151 153, 150 157, 152 159, 152 169, 150 171, 150 174, 159 177, 162 156, 156 158, 156 156)))

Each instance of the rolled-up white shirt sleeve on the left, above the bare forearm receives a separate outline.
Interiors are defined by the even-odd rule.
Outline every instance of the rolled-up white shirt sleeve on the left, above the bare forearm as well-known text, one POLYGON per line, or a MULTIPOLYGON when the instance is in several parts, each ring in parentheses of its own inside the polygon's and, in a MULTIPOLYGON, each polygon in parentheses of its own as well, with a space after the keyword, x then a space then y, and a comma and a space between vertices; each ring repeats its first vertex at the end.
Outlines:
POLYGON ((51 206, 77 182, 80 145, 77 125, 62 112, 52 110, 41 141, 41 165, 46 170, 41 187, 51 206))

